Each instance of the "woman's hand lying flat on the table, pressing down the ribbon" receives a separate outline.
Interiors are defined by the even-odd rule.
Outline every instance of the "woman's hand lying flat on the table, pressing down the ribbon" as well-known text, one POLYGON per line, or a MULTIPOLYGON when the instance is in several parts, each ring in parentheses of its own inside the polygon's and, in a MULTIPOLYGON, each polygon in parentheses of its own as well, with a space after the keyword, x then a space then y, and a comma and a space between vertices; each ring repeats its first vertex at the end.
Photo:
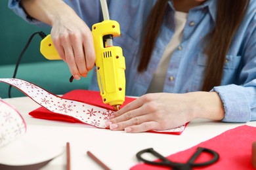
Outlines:
POLYGON ((126 132, 165 130, 194 118, 222 120, 224 109, 215 92, 149 93, 118 110, 106 127, 126 132))

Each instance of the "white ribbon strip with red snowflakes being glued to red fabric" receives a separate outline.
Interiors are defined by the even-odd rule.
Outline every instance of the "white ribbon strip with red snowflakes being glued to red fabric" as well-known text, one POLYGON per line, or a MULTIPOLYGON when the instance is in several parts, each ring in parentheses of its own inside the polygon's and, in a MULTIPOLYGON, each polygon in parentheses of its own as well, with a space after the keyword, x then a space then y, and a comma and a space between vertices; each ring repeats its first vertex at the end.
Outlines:
MULTIPOLYGON (((114 112, 113 110, 103 109, 93 105, 88 105, 80 101, 64 99, 53 95, 52 93, 43 90, 39 86, 21 80, 18 78, 0 78, 0 82, 5 82, 15 86, 36 103, 45 107, 56 114, 64 114, 72 116, 85 124, 90 124, 95 127, 106 128, 105 122, 108 117, 114 112)), ((160 133, 182 132, 185 126, 180 126, 166 131, 156 131, 160 133)), ((0 136, 1 137, 1 136, 0 136)), ((0 139, 1 140, 1 139, 0 139)))

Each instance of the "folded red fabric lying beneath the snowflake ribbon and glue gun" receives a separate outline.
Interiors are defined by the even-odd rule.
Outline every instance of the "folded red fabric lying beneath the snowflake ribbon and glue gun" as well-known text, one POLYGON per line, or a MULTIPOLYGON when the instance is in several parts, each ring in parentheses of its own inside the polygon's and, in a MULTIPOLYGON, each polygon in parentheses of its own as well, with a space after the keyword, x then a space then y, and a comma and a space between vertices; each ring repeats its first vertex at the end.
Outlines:
MULTIPOLYGON (((105 105, 102 102, 102 98, 100 96, 100 92, 96 91, 90 91, 90 90, 72 90, 71 92, 68 92, 62 96, 64 99, 72 99, 75 101, 81 101, 83 103, 87 103, 90 105, 96 105, 98 107, 104 107, 108 108, 110 110, 113 110, 113 107, 110 105, 105 105)), ((127 103, 130 103, 131 101, 135 100, 135 98, 131 97, 125 97, 125 102, 121 107, 124 105, 127 105, 127 103)), ((38 109, 33 110, 32 112, 29 113, 30 116, 33 116, 35 118, 42 118, 42 119, 47 119, 47 120, 60 120, 64 122, 79 122, 79 120, 71 117, 71 116, 66 116, 64 114, 56 114, 54 112, 51 112, 44 107, 39 107, 38 109)))

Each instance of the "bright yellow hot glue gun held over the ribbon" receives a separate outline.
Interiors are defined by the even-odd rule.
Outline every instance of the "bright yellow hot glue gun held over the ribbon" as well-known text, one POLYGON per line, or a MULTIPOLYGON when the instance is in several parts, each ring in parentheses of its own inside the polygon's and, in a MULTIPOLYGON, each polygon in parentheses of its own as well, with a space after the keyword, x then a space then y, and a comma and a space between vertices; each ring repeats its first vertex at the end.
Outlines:
MULTIPOLYGON (((104 20, 93 25, 96 55, 96 75, 102 101, 115 110, 125 101, 125 58, 119 46, 112 46, 113 37, 120 35, 118 22, 104 20)), ((47 59, 61 59, 54 48, 51 35, 41 41, 40 52, 47 59)))

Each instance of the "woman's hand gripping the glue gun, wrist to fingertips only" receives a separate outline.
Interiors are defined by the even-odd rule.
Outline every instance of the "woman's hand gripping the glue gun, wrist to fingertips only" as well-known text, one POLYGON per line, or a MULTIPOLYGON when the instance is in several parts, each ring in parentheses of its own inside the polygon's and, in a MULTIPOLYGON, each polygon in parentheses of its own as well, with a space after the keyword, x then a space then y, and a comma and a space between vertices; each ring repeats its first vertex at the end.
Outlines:
POLYGON ((89 27, 75 14, 74 10, 63 11, 52 22, 53 44, 75 79, 87 76, 95 65, 93 36, 89 27))

